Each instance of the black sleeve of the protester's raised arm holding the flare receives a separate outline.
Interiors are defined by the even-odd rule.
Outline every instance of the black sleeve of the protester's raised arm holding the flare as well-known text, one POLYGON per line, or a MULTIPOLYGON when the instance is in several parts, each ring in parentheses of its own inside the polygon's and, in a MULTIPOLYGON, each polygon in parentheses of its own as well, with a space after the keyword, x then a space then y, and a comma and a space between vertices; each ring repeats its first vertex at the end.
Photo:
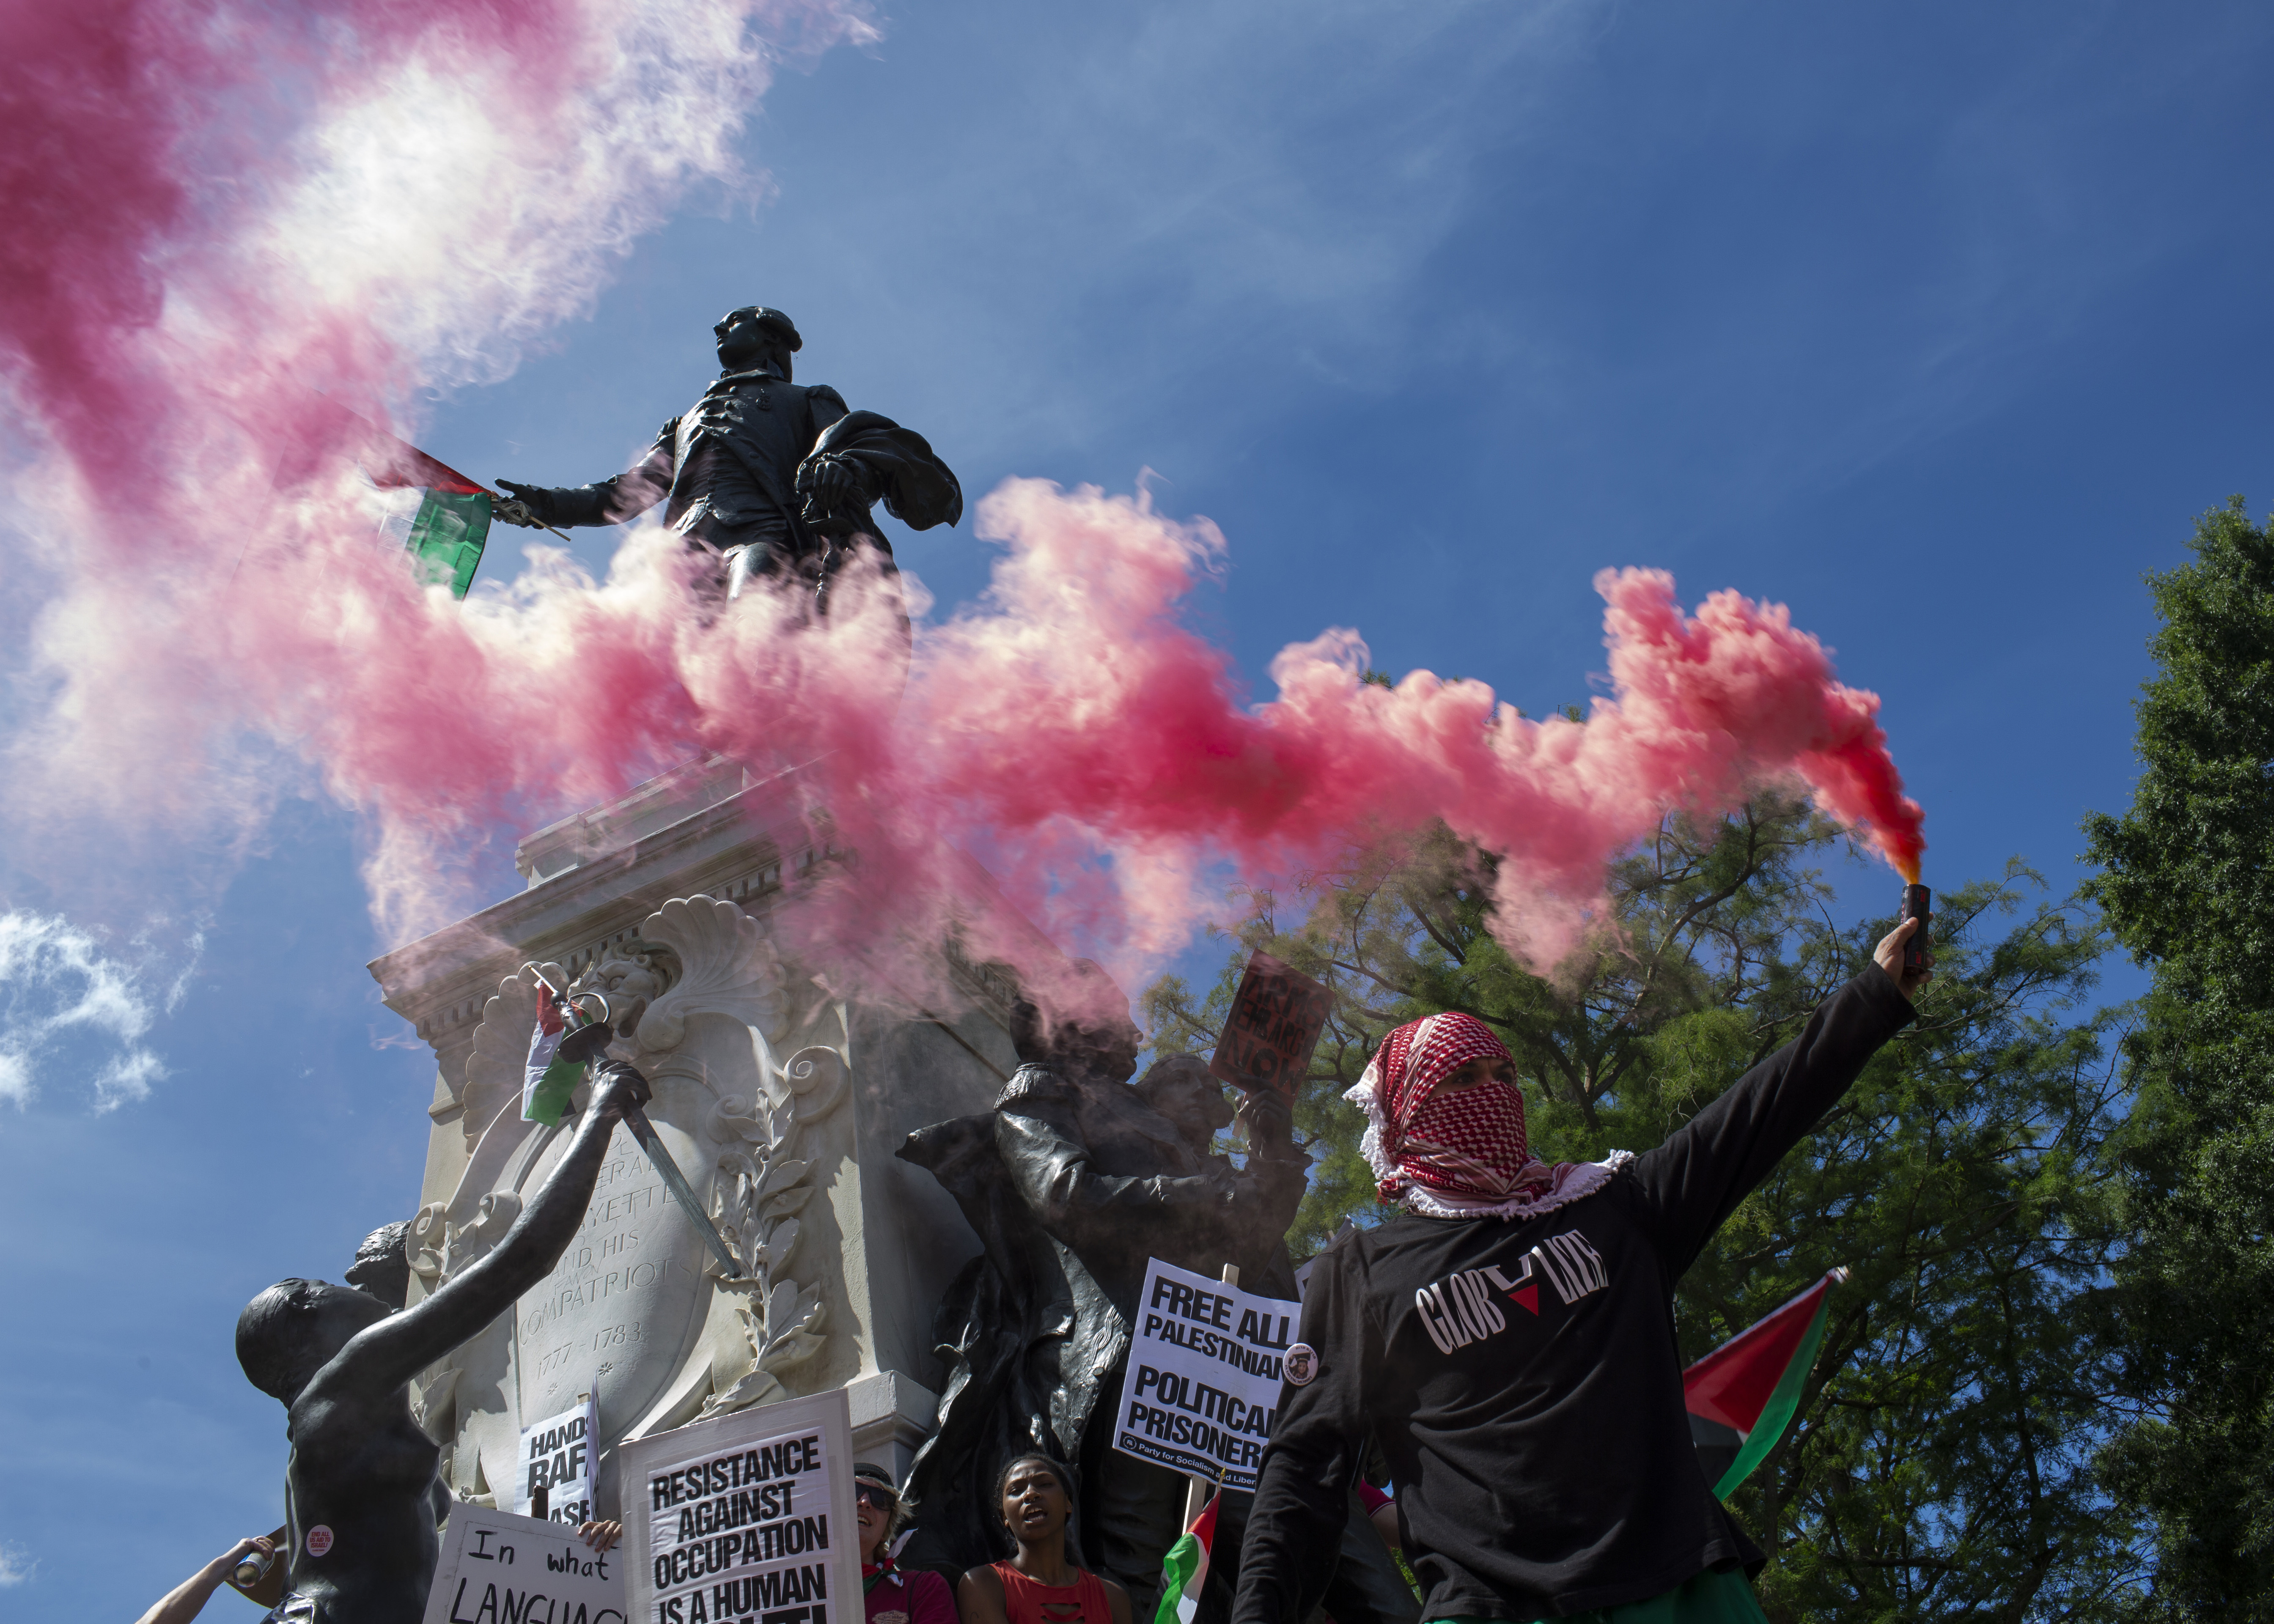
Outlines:
POLYGON ((1628 1176, 1655 1231, 1669 1278, 1678 1278, 1817 1126, 1878 1046, 1912 1019, 1910 999, 1878 964, 1817 1005, 1790 1044, 1737 1078, 1721 1099, 1637 1155, 1628 1176))

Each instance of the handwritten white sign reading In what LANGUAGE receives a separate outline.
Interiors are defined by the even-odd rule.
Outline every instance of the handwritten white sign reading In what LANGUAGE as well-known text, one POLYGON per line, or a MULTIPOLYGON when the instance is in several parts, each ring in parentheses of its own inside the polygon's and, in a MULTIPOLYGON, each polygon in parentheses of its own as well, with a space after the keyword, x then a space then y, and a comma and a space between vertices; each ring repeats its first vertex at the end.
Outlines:
POLYGON ((487 1506, 453 1506, 421 1624, 625 1624, 623 1551, 575 1528, 487 1506))

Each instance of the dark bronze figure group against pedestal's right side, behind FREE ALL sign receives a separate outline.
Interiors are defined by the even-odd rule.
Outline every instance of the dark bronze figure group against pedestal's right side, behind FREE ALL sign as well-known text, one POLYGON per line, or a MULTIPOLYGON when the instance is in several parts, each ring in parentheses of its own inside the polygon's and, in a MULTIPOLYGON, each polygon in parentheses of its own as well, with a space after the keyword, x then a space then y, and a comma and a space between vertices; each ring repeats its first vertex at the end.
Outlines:
MULTIPOLYGON (((1239 1267, 1248 1290, 1294 1296, 1285 1235, 1308 1158, 1287 1103, 1251 1094, 1246 1167, 1214 1155, 1233 1124, 1201 1060, 1173 1055, 1135 1085, 1139 1035, 1128 1001, 1082 964, 1085 1014, 1012 1014, 1023 1062, 996 1108, 919 1128, 901 1158, 930 1169, 980 1235, 982 1253, 948 1285, 935 1342, 948 1358, 939 1431, 916 1453, 916 1538, 903 1560, 973 1567, 991 1549, 994 1478, 1039 1449, 1078 1469, 1073 1533, 1087 1567, 1119 1581, 1151 1617, 1162 1551, 1176 1540, 1185 1478, 1112 1449, 1114 1403, 1146 1260, 1198 1274, 1239 1267)), ((1064 1001, 1062 1001, 1064 1005, 1064 1001)), ((1226 1494, 1244 1510, 1248 1497, 1226 1494)), ((1355 1519, 1333 1599, 1342 1624, 1412 1624, 1412 1592, 1371 1524, 1355 1519)), ((1219 1558, 1237 1574, 1233 1551, 1219 1558)), ((1221 1617, 1230 1588, 1203 1597, 1221 1617)))

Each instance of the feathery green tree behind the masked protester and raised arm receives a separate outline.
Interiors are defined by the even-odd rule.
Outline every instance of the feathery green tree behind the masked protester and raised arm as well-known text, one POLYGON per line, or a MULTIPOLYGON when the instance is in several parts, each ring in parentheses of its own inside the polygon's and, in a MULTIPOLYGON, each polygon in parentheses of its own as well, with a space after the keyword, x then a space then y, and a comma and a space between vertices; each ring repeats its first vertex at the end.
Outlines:
MULTIPOLYGON (((1255 896, 1205 999, 1162 980, 1144 1005, 1162 1051, 1205 1051, 1248 948, 1335 989, 1296 1105, 1317 1171, 1289 1240, 1317 1246, 1344 1217, 1380 1217, 1339 1096, 1419 1014, 1503 1033, 1551 1160, 1649 1149, 1696 1115, 1892 926, 1833 921, 1812 862, 1835 842, 1769 798, 1715 826, 1667 819, 1612 873, 1601 937, 1542 978, 1487 930, 1489 857, 1439 832, 1317 876, 1292 917, 1255 896)), ((1794 1428, 1731 1506, 1771 1553, 1771 1617, 2083 1619, 2138 1592, 2138 1535, 2090 1469, 2110 1378, 2078 1312, 2117 1217, 2115 1017, 2083 1005, 2099 926, 2040 896, 2019 867, 1940 894, 1922 1019, 1680 1285, 1696 1358, 1826 1269, 1853 1271, 1794 1428)))

